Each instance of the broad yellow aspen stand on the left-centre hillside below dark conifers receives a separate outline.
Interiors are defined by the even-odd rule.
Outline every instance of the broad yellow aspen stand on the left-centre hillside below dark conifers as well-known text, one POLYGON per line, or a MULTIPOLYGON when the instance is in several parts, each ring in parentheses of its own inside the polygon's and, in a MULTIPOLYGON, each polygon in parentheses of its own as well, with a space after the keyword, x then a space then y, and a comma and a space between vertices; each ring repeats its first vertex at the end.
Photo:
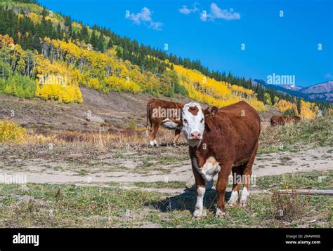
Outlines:
MULTIPOLYGON (((57 48, 58 51, 65 53, 65 60, 69 66, 64 68, 71 72, 72 80, 88 88, 103 90, 126 91, 138 93, 145 90, 146 78, 140 72, 140 69, 131 65, 131 62, 119 60, 115 50, 109 49, 106 53, 100 53, 96 50, 88 50, 85 43, 78 45, 67 43, 56 39, 44 38, 44 42, 57 48), (86 62, 89 67, 77 69, 75 62, 86 62)), ((57 64, 57 61, 53 61, 57 64)), ((59 63, 58 63, 59 64, 59 63)), ((50 66, 51 68, 52 66, 50 66)), ((58 66, 55 68, 58 69, 58 66)))

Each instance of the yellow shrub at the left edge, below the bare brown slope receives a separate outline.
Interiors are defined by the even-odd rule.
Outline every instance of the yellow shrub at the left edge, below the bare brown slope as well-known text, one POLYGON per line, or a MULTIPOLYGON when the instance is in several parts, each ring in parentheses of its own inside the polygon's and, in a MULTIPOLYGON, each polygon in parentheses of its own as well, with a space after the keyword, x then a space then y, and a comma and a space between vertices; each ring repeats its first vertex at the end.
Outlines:
POLYGON ((23 142, 27 131, 21 128, 17 123, 3 119, 0 121, 0 142, 23 142))

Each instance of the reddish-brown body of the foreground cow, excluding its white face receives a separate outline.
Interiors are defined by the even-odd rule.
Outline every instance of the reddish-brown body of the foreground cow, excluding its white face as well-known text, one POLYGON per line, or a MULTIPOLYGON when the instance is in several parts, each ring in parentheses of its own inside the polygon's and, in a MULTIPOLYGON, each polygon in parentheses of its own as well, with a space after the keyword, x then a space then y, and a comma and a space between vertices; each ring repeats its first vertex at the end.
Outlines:
MULTIPOLYGON (((207 165, 219 165, 216 216, 225 212, 224 199, 228 177, 233 175, 252 175, 252 165, 258 149, 260 118, 254 108, 246 102, 217 109, 209 107, 204 111, 205 130, 198 147, 190 147, 192 170, 195 175, 197 191, 204 187, 207 177, 202 175, 202 168, 207 165)), ((244 187, 248 189, 249 179, 244 187)), ((240 184, 233 182, 233 191, 240 189, 240 184)), ((242 200, 242 198, 241 198, 242 200)), ((242 203, 242 201, 241 201, 242 203)), ((246 203, 246 201, 244 202, 246 203)))

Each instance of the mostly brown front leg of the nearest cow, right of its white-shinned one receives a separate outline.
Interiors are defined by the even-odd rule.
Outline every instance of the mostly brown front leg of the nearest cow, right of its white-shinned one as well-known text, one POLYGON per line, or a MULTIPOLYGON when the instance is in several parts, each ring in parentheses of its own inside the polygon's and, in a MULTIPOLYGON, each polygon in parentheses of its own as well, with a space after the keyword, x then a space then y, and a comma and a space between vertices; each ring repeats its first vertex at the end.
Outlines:
POLYGON ((217 206, 215 217, 224 217, 226 215, 225 196, 228 185, 228 178, 231 172, 231 165, 221 165, 221 170, 218 172, 218 180, 216 184, 217 206))

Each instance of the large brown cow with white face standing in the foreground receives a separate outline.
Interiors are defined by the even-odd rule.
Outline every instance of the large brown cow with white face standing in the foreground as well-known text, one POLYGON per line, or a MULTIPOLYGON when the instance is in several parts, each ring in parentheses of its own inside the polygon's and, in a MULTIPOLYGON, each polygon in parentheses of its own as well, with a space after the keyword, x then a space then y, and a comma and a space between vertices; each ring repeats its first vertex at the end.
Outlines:
MULTIPOLYGON (((244 101, 206 110, 200 104, 190 102, 183 107, 182 121, 197 187, 193 217, 202 216, 205 184, 216 174, 216 217, 225 215, 224 199, 230 172, 233 172, 233 177, 242 177, 244 188, 240 203, 246 206, 260 134, 260 118, 256 110, 244 101)), ((229 205, 238 203, 239 190, 240 181, 233 178, 229 205)))

